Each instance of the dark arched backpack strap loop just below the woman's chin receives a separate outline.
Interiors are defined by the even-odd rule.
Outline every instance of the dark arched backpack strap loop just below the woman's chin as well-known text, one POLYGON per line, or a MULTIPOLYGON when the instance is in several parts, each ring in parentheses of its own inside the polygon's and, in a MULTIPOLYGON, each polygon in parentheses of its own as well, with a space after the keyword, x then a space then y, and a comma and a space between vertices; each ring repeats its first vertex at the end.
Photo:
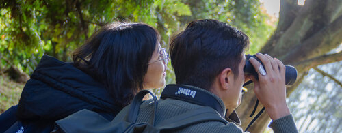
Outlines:
POLYGON ((155 114, 157 110, 157 97, 155 94, 148 90, 142 90, 137 95, 135 95, 133 102, 131 103, 131 107, 129 108, 129 113, 127 114, 127 122, 135 123, 137 121, 137 115, 139 115, 140 105, 142 104, 142 99, 146 94, 150 93, 153 98, 153 104, 155 105, 155 110, 153 110, 153 123, 155 125, 155 114))

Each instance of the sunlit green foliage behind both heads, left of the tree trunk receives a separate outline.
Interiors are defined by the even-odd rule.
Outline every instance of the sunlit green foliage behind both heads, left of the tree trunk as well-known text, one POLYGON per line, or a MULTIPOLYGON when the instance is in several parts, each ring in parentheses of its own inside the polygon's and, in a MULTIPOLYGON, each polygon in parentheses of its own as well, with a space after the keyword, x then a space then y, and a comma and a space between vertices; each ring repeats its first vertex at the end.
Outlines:
MULTIPOLYGON (((143 22, 161 33, 161 45, 191 20, 213 18, 250 36, 256 53, 274 29, 258 0, 4 0, 0 3, 0 65, 31 74, 43 54, 71 61, 70 53, 101 26, 114 21, 143 22)), ((168 65, 167 83, 174 83, 168 65)))

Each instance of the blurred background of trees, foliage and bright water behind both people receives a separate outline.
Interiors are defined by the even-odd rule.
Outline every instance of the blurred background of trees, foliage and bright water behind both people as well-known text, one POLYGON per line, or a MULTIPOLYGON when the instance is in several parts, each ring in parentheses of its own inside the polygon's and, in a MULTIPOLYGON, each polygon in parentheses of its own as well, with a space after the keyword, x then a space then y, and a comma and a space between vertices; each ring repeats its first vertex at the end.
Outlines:
MULTIPOLYGON (((341 0, 1 0, 0 113, 18 104, 42 55, 70 53, 101 26, 143 22, 170 36, 201 18, 226 22, 250 37, 247 53, 267 53, 298 69, 287 102, 300 132, 342 132, 341 0)), ((168 64, 167 83, 175 83, 168 64)), ((257 98, 248 86, 237 112, 245 129, 257 98)), ((161 89, 154 89, 160 95, 161 89)), ((262 106, 259 105, 259 110, 262 106)), ((248 130, 272 132, 263 113, 248 130)))

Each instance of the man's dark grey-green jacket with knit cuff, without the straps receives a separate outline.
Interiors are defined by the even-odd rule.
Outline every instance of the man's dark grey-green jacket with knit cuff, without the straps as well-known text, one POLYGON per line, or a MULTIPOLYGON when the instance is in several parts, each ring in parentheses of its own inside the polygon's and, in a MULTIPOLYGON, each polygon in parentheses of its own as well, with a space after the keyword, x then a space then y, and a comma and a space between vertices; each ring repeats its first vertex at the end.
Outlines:
MULTIPOLYGON (((205 91, 204 89, 199 89, 198 87, 193 87, 196 91, 203 91, 205 93, 209 93, 219 102, 220 106, 224 106, 224 103, 217 95, 205 91)), ((157 106, 157 115, 155 118, 155 125, 160 123, 163 120, 169 119, 171 117, 175 117, 177 115, 181 115, 182 113, 186 113, 188 111, 196 111, 198 108, 202 108, 203 106, 198 104, 192 104, 190 102, 185 102, 183 100, 176 100, 173 98, 159 99, 157 106)), ((153 100, 147 100, 140 106, 140 113, 137 117, 137 123, 139 122, 149 122, 153 121, 153 100)), ((127 113, 129 106, 122 109, 121 113, 127 113)), ((122 119, 120 117, 116 117, 116 119, 122 119)), ((224 119, 224 118, 222 118, 224 119)), ((226 120, 229 122, 228 124, 224 124, 218 121, 209 121, 205 123, 199 123, 196 125, 191 125, 186 128, 182 128, 181 130, 176 130, 174 132, 243 132, 241 128, 239 128, 240 119, 235 112, 233 112, 226 120)), ((298 132, 295 123, 293 121, 292 115, 287 115, 280 119, 277 119, 271 123, 271 128, 273 128, 274 132, 298 132)))

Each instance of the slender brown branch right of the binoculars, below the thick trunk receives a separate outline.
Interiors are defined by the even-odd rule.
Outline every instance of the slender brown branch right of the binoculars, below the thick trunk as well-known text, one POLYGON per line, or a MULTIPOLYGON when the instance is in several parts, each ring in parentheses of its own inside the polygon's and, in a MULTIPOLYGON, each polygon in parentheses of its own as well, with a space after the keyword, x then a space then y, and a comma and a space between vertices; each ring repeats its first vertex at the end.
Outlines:
POLYGON ((333 63, 337 61, 342 60, 342 51, 339 53, 334 53, 330 55, 321 55, 319 57, 314 57, 311 59, 307 59, 305 61, 295 63, 295 68, 298 69, 298 71, 307 71, 310 68, 314 68, 318 65, 323 65, 326 63, 333 63))

